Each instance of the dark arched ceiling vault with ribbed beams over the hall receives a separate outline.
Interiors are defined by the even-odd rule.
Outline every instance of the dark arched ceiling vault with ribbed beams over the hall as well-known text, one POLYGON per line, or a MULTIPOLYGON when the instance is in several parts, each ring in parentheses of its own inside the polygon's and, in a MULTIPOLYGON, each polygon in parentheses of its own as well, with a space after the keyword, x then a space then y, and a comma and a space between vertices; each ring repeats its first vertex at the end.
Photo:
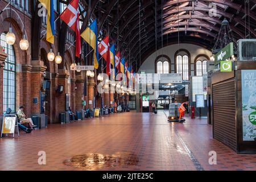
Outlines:
MULTIPOLYGON (((141 0, 140 18, 139 2, 90 1, 90 14, 92 19, 98 19, 102 37, 109 34, 110 42, 116 45, 118 42, 118 50, 137 68, 155 49, 177 43, 178 36, 180 43, 211 49, 224 18, 228 19, 235 39, 256 38, 256 0, 246 4, 244 0, 156 0, 156 6, 155 0, 141 0), (216 16, 209 15, 210 5, 216 5, 216 16)), ((80 0, 80 3, 89 12, 89 0, 80 0)), ((89 13, 80 17, 81 31, 88 26, 88 17, 89 13)))

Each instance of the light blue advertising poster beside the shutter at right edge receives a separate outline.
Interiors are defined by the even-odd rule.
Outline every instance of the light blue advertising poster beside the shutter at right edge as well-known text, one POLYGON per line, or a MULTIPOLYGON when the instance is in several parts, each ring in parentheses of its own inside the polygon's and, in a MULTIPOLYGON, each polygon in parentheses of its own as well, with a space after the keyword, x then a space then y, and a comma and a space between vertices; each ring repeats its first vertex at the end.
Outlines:
POLYGON ((243 141, 256 139, 256 70, 242 70, 243 141))

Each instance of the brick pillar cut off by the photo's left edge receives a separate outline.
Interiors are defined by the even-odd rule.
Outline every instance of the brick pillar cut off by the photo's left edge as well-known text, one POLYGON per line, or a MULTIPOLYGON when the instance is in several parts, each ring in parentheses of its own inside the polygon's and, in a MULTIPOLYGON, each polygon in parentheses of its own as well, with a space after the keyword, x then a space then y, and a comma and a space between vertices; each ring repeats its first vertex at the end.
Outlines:
MULTIPOLYGON (((3 67, 5 67, 5 59, 7 54, 3 52, 3 48, 0 46, 0 117, 3 115, 3 67)), ((0 126, 1 129, 2 125, 0 126)))

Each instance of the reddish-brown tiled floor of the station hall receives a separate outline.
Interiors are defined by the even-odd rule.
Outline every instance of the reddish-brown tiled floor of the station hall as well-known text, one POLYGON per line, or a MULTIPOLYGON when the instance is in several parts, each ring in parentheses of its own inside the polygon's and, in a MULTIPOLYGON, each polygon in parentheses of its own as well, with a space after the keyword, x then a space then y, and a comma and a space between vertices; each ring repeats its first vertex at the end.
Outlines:
POLYGON ((0 139, 0 170, 256 170, 212 138, 205 119, 168 123, 166 114, 112 114, 0 139), (46 152, 46 165, 38 152, 46 152), (209 165, 209 151, 217 165, 209 165))

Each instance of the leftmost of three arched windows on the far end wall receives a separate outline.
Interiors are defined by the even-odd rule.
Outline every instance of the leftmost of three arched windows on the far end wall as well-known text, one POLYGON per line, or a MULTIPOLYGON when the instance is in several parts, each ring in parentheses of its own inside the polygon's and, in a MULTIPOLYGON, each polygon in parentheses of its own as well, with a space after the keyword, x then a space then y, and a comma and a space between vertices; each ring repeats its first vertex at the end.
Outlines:
POLYGON ((168 56, 158 56, 155 63, 155 73, 171 73, 171 60, 168 56))

